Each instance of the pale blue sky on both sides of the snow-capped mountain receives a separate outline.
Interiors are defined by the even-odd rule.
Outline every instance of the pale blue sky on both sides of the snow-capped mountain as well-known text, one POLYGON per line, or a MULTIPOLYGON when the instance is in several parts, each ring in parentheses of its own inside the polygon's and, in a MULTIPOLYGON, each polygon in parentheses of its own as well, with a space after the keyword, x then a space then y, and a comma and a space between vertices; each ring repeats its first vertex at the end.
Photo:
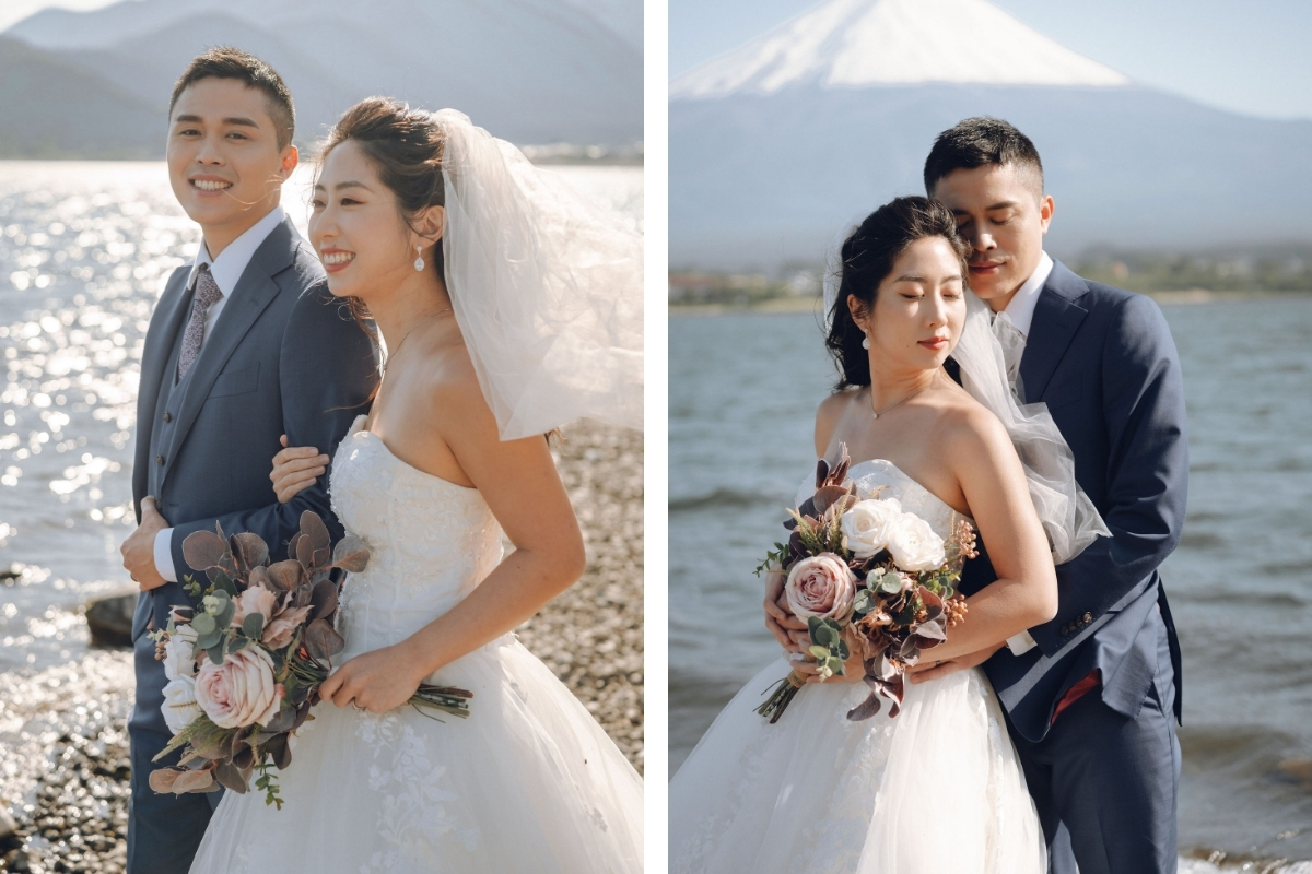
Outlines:
MULTIPOLYGON (((993 5, 1141 85, 1233 111, 1312 118, 1308 0, 992 0, 993 5)), ((669 0, 677 76, 820 0, 669 0)))

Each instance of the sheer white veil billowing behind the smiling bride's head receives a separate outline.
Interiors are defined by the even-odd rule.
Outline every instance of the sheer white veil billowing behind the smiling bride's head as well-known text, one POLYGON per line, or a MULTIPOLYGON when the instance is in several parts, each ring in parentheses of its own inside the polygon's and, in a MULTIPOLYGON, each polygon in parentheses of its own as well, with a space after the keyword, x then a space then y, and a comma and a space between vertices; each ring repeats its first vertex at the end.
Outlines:
POLYGON ((642 428, 642 236, 463 113, 433 121, 446 287, 501 439, 642 428))

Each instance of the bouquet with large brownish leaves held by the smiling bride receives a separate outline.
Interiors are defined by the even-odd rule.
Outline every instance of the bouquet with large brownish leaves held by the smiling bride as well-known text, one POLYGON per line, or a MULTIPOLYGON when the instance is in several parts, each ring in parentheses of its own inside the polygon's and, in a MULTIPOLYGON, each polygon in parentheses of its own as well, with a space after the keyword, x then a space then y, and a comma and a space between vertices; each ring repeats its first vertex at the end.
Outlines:
MULTIPOLYGON (((173 739, 155 757, 186 747, 178 765, 157 768, 157 793, 245 793, 253 772, 265 803, 282 807, 270 765, 291 764, 291 735, 319 701, 319 684, 345 641, 333 628, 337 583, 333 570, 359 573, 369 549, 346 536, 329 549, 328 528, 314 512, 287 544, 287 561, 269 563, 257 535, 224 537, 197 531, 182 541, 186 563, 205 571, 206 584, 186 575, 197 608, 174 607, 168 628, 154 632, 155 658, 164 662, 164 722, 173 739)), ((420 685, 411 704, 468 715, 464 689, 420 685)))

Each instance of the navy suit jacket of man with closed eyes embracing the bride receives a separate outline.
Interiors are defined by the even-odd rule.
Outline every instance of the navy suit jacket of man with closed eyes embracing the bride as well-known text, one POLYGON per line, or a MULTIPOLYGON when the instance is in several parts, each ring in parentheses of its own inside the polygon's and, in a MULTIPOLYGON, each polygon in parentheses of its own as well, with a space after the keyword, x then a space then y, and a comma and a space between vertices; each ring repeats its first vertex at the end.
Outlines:
MULTIPOLYGON (((1047 404, 1111 537, 1056 569, 1057 615, 1030 629, 1038 646, 1021 656, 1004 647, 984 671, 1013 727, 1036 742, 1061 696, 1093 670, 1103 701, 1127 717, 1138 715, 1155 681, 1166 694, 1157 658, 1165 634, 1178 719, 1179 645, 1157 567, 1179 542, 1189 446, 1166 320, 1151 299, 1056 262, 1036 301, 1019 384, 1025 401, 1047 404)), ((962 591, 996 578, 985 550, 967 563, 962 591)))

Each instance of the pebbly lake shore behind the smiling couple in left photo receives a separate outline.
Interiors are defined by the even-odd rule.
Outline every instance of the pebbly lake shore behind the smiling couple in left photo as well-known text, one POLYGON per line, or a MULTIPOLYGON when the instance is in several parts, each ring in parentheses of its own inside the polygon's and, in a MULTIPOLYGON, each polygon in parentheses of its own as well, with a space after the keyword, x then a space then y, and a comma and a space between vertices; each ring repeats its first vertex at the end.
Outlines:
MULTIPOLYGON (((588 570, 517 633, 642 770, 643 438, 580 423, 565 430, 556 457, 588 570)), ((0 674, 0 870, 123 870, 131 687, 122 649, 0 674)))

